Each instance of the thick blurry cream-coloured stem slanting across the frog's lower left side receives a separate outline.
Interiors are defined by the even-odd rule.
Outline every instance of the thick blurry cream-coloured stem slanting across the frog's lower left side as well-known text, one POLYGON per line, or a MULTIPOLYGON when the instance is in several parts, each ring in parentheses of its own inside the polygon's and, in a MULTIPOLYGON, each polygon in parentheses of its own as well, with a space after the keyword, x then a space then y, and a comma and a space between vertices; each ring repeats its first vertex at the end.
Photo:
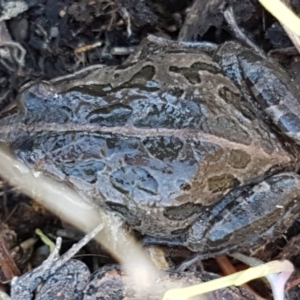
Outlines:
POLYGON ((159 275, 157 269, 141 247, 123 230, 118 218, 90 205, 88 199, 81 198, 66 185, 40 172, 31 171, 4 151, 0 151, 0 163, 0 175, 3 178, 66 222, 85 232, 103 223, 104 229, 96 240, 123 265, 132 284, 141 288, 144 286, 145 292, 155 285, 159 275))

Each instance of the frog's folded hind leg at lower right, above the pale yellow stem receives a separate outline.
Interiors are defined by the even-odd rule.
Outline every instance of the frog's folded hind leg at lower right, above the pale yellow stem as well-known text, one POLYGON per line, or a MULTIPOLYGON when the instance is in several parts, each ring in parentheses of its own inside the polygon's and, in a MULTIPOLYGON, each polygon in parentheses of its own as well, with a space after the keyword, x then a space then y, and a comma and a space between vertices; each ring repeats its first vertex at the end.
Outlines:
POLYGON ((212 257, 232 251, 248 252, 275 240, 299 215, 300 176, 295 173, 271 176, 246 187, 232 200, 209 219, 209 224, 201 219, 196 221, 183 245, 212 257))

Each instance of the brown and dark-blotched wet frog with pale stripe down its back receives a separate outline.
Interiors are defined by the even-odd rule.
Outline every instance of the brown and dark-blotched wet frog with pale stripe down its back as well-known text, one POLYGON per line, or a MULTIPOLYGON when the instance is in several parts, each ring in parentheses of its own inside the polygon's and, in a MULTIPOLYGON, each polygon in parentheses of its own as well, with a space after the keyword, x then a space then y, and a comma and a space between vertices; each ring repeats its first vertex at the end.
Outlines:
POLYGON ((33 85, 1 139, 157 240, 220 253, 275 237, 300 207, 298 91, 235 43, 200 50, 147 42, 121 66, 33 85))

